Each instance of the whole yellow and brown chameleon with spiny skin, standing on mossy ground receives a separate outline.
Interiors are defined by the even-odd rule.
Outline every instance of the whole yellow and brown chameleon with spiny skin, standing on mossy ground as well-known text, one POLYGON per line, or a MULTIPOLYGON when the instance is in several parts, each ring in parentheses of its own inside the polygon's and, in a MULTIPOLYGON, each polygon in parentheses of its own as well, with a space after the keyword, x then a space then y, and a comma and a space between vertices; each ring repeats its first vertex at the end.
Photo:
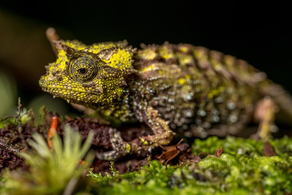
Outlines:
POLYGON ((275 105, 292 116, 291 96, 244 60, 190 44, 142 46, 58 40, 57 59, 39 80, 42 90, 55 97, 92 108, 109 120, 144 122, 153 131, 139 137, 138 144, 112 132, 114 150, 99 158, 150 151, 168 144, 176 133, 236 134, 255 116, 269 131, 275 105), (256 114, 257 102, 265 112, 256 114))

